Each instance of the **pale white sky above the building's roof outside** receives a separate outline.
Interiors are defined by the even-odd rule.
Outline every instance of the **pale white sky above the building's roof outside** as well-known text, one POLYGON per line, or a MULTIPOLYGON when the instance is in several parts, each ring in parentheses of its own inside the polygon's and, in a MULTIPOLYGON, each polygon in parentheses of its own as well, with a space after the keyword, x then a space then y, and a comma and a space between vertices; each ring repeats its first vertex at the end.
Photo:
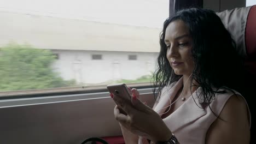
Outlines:
POLYGON ((0 11, 162 27, 169 0, 0 0, 0 11))

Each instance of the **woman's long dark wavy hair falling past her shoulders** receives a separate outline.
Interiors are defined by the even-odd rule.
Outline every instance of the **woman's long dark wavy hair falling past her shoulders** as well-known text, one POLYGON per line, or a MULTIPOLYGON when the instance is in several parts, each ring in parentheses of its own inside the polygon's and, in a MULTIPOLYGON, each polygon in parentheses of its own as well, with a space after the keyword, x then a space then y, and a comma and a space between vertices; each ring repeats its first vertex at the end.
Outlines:
POLYGON ((221 91, 222 93, 234 89, 242 94, 243 58, 238 55, 230 33, 214 11, 190 8, 178 11, 164 22, 164 28, 160 34, 158 69, 154 73, 155 98, 158 97, 162 88, 177 82, 182 77, 174 74, 166 57, 167 49, 164 42, 167 26, 176 20, 182 20, 187 25, 193 39, 191 53, 195 65, 191 78, 198 85, 195 83, 190 85, 201 87, 201 94, 197 97, 202 100, 202 104, 208 106, 215 94, 220 93, 219 88, 225 89, 221 91), (215 88, 217 91, 214 91, 215 88))

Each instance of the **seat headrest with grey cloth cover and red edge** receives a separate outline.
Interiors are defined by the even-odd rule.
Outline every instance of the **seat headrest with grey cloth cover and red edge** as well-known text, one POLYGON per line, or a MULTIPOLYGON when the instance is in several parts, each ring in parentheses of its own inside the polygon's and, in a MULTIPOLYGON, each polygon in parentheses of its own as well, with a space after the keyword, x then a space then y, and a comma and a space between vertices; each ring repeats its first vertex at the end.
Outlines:
POLYGON ((256 60, 256 5, 225 10, 217 15, 235 40, 237 52, 256 60))

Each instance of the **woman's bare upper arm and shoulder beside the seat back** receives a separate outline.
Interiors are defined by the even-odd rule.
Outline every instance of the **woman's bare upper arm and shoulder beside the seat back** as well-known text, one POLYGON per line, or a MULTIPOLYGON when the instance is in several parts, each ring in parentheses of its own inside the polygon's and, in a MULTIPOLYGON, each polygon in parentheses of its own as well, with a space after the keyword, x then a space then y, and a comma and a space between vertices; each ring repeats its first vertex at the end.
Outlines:
POLYGON ((219 118, 207 131, 207 144, 249 143, 249 113, 245 100, 240 95, 232 95, 226 102, 219 118))

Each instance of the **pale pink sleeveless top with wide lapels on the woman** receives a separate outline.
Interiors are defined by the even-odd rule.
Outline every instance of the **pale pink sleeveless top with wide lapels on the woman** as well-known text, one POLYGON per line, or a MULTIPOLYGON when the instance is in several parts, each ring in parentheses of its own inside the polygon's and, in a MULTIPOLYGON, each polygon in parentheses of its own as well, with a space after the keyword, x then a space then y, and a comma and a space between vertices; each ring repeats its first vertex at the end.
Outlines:
MULTIPOLYGON (((172 101, 182 85, 183 78, 181 78, 173 86, 168 86, 162 89, 161 98, 153 107, 153 109, 158 112, 160 116, 161 113, 164 113, 166 110, 166 108, 163 108, 170 105, 170 100, 168 97, 170 97, 172 101)), ((220 89, 219 91, 223 90, 224 89, 220 89)), ((196 94, 199 95, 200 92, 201 88, 199 87, 187 99, 187 101, 178 107, 177 110, 163 119, 167 127, 177 137, 179 143, 205 143, 207 130, 217 118, 214 113, 219 115, 226 101, 231 97, 231 95, 234 94, 232 92, 227 92, 224 94, 216 93, 216 98, 212 100, 210 104, 211 109, 214 112, 213 113, 209 106, 207 106, 206 109, 201 109, 199 107, 201 105, 199 104, 199 99, 197 98, 196 94)), ((241 95, 238 92, 235 93, 241 95)), ((138 143, 148 144, 148 141, 143 137, 139 137, 138 143)))

